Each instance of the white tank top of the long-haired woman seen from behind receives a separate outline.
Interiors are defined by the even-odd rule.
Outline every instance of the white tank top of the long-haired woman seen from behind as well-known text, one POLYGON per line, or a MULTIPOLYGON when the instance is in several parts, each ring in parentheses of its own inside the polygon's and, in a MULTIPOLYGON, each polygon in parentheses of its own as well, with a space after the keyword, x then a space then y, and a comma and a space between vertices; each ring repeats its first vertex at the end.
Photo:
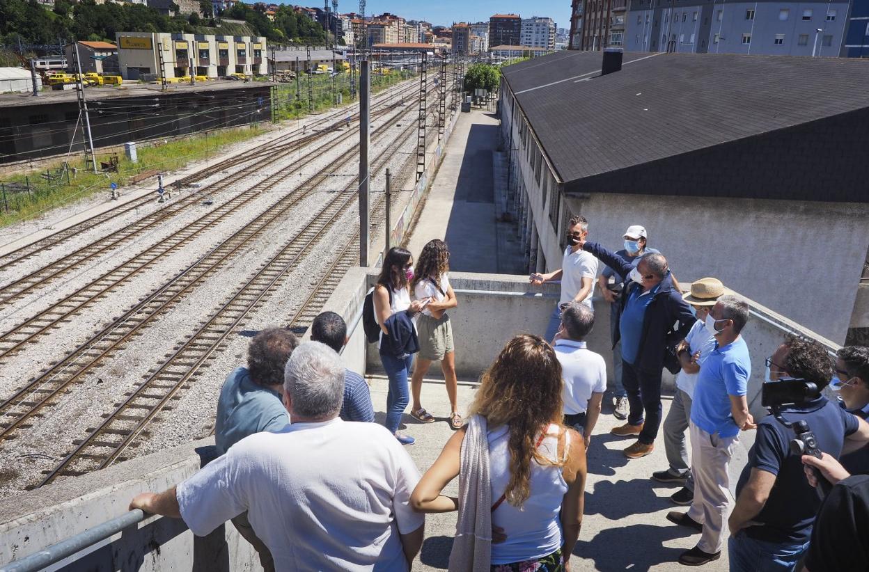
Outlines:
MULTIPOLYGON (((537 443, 539 435, 534 436, 537 443)), ((569 448, 566 436, 564 455, 569 448)), ((507 447, 509 427, 502 425, 488 431, 489 483, 492 487, 492 503, 495 503, 510 480, 510 452, 507 447)), ((558 426, 549 425, 547 437, 538 448, 542 457, 556 460, 558 457, 558 426)), ((531 496, 522 510, 504 501, 492 513, 492 525, 504 529, 507 541, 492 544, 492 563, 509 564, 533 560, 552 554, 561 548, 561 502, 567 493, 567 483, 561 475, 561 467, 541 465, 532 459, 530 488, 531 496)))

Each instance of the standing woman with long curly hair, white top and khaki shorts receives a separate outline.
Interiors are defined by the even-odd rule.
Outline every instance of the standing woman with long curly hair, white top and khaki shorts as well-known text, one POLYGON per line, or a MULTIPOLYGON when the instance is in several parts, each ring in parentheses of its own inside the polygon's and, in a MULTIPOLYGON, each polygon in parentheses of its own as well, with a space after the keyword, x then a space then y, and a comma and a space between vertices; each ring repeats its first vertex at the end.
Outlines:
POLYGON ((455 299, 453 286, 449 285, 448 271, 447 243, 438 239, 429 240, 426 246, 422 247, 420 258, 416 261, 414 279, 410 283, 415 299, 431 300, 416 320, 416 332, 420 338, 420 355, 416 358, 414 376, 410 379, 410 392, 413 398, 410 414, 422 423, 434 421, 431 413, 422 407, 420 393, 423 376, 428 372, 433 361, 440 360, 449 398, 449 426, 453 429, 461 429, 458 380, 455 377, 453 326, 447 314, 447 310, 458 306, 458 302, 455 299))

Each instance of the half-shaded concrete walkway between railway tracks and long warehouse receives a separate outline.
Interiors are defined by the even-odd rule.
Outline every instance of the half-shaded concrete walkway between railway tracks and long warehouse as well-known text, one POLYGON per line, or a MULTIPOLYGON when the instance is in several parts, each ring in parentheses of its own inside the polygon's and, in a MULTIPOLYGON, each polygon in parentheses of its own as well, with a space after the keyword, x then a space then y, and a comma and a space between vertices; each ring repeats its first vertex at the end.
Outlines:
MULTIPOLYGON (((419 254, 428 240, 449 245, 457 272, 524 273, 518 241, 496 218, 498 119, 488 111, 462 113, 434 175, 408 248, 419 254)), ((500 165, 500 163, 499 163, 500 165)))

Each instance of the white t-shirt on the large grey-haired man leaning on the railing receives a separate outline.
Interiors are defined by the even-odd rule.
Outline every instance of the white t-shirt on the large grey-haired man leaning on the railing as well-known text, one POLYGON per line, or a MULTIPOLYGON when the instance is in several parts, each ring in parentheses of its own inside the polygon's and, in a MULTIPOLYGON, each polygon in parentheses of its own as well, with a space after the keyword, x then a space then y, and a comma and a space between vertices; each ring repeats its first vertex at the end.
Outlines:
POLYGON ((278 570, 407 570, 400 534, 420 472, 382 425, 297 423, 256 433, 179 484, 196 536, 248 510, 278 570))

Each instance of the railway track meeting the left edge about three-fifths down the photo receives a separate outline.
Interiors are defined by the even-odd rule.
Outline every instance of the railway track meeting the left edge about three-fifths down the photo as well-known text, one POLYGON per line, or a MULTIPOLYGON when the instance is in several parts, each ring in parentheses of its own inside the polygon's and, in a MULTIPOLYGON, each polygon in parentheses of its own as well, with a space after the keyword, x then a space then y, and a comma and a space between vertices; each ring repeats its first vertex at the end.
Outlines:
MULTIPOLYGON (((392 110, 392 108, 385 111, 388 112, 390 110, 392 110)), ((401 116, 406 113, 407 111, 400 110, 396 116, 401 116)), ((383 116, 384 114, 380 115, 383 116)), ((390 122, 384 122, 382 125, 375 128, 375 141, 384 136, 382 135, 385 133, 383 127, 388 126, 389 123, 390 122)), ((346 160, 351 155, 355 154, 357 147, 358 146, 354 146, 345 152, 337 159, 337 161, 335 161, 335 164, 340 164, 343 160, 346 160)), ((57 300, 42 312, 36 313, 36 315, 24 320, 22 323, 11 328, 8 332, 4 332, 0 335, 0 363, 3 363, 3 358, 7 358, 11 354, 19 352, 27 345, 36 343, 37 339, 52 332, 60 325, 63 325, 63 323, 70 321, 73 316, 81 312, 84 308, 93 305, 97 299, 101 299, 107 293, 115 291, 119 286, 129 282, 130 279, 135 278, 149 267, 154 266, 158 261, 168 257, 169 254, 175 253, 180 248, 189 244, 191 240, 195 240, 196 237, 207 232, 210 227, 213 227, 222 220, 227 220, 240 208, 245 207, 251 201, 254 201, 260 194, 269 191, 282 181, 293 176, 304 167, 308 159, 319 154, 321 154, 319 149, 310 151, 307 155, 295 162, 295 168, 289 171, 279 171, 278 173, 270 175, 266 180, 255 184, 253 187, 249 187, 241 194, 236 195, 234 198, 223 203, 220 207, 217 207, 215 210, 203 214, 198 220, 191 222, 176 233, 161 240, 156 245, 147 248, 145 251, 137 254, 130 260, 123 261, 118 266, 115 266, 108 272, 91 280, 88 284, 78 288, 70 295, 57 300)), ((289 207, 297 204, 298 201, 301 201, 302 198, 308 196, 308 194, 310 194, 318 185, 326 181, 328 173, 329 172, 315 174, 313 177, 310 177, 308 181, 303 182, 302 185, 297 187, 292 193, 282 196, 274 204, 267 207, 262 215, 265 216, 265 219, 269 220, 269 226, 277 220, 275 216, 272 215, 286 213, 286 210, 289 207), (298 196, 300 193, 302 195, 298 196)), ((253 228, 256 228, 256 232, 263 232, 265 228, 259 228, 257 224, 258 221, 262 219, 262 215, 253 220, 250 225, 247 225, 247 227, 242 228, 241 234, 236 234, 233 238, 239 239, 242 236, 253 238, 253 235, 250 234, 250 229, 253 228)), ((214 252, 215 251, 209 253, 209 256, 213 256, 214 252)), ((186 272, 187 271, 185 271, 185 273, 186 272)), ((0 405, 0 416, 2 415, 3 406, 0 405)), ((0 417, 0 419, 2 419, 2 417, 0 417)), ((2 437, 2 432, 0 432, 0 437, 2 437)))

